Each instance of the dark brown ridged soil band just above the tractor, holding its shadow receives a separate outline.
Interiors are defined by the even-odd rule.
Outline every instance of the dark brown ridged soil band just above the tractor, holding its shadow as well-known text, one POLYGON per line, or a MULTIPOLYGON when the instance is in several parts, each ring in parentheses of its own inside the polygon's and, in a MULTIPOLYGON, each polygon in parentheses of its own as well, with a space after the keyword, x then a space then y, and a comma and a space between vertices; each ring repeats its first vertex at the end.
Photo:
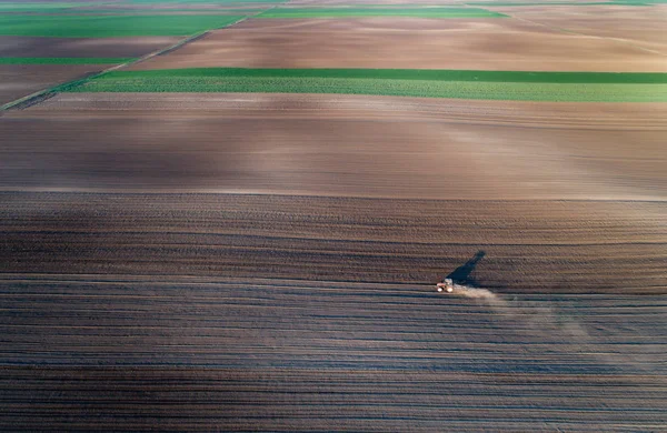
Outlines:
POLYGON ((466 279, 498 293, 667 293, 665 202, 0 197, 1 273, 390 282, 428 292, 484 251, 466 279))

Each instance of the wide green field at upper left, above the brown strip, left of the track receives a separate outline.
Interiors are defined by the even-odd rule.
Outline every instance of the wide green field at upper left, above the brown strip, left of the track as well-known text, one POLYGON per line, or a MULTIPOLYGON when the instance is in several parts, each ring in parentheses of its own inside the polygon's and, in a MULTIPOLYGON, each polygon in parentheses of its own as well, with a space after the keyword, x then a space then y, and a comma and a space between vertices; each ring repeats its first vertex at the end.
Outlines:
POLYGON ((245 16, 0 16, 0 36, 111 38, 190 36, 245 16))

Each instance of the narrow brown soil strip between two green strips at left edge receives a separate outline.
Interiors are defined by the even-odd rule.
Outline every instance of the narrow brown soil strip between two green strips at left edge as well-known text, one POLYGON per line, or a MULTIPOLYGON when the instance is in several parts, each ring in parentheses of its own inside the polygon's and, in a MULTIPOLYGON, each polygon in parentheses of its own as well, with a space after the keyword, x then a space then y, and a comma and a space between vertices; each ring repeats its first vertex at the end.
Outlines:
POLYGON ((0 36, 0 57, 141 57, 182 38, 38 38, 0 36))

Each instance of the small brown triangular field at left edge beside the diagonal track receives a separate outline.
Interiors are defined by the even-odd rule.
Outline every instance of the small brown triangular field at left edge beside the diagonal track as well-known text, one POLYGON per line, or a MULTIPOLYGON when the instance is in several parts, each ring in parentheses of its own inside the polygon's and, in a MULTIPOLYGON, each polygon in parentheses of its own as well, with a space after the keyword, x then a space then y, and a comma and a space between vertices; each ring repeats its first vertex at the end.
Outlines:
POLYGON ((0 64, 0 104, 104 68, 99 64, 0 64))

